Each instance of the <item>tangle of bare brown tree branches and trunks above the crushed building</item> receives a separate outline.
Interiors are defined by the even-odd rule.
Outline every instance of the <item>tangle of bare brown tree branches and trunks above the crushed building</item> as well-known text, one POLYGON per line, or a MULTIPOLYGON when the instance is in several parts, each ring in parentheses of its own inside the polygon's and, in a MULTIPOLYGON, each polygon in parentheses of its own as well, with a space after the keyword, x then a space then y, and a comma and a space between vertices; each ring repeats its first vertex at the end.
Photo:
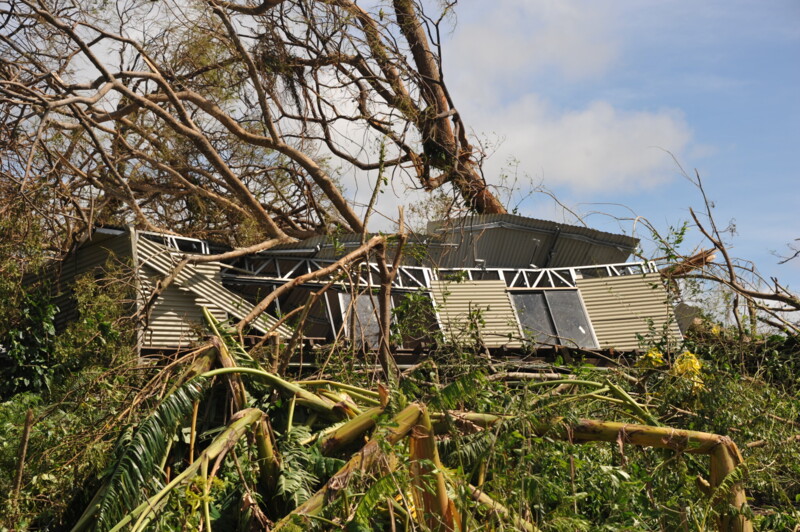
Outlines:
POLYGON ((379 169, 504 212, 444 83, 442 19, 411 0, 15 0, 0 20, 0 176, 62 232, 362 232, 341 176, 379 169))

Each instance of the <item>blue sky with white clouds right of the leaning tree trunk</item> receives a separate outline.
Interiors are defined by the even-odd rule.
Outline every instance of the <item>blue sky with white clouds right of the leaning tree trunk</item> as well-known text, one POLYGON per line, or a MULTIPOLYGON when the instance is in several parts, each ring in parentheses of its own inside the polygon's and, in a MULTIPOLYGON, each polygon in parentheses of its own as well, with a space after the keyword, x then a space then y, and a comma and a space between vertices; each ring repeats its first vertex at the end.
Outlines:
POLYGON ((487 177, 518 179, 511 207, 574 221, 528 193, 543 186, 593 227, 630 233, 644 216, 665 230, 702 208, 677 160, 717 223, 735 223, 733 254, 800 289, 800 259, 772 254, 800 238, 800 2, 462 0, 457 13, 445 78, 492 152, 487 177))

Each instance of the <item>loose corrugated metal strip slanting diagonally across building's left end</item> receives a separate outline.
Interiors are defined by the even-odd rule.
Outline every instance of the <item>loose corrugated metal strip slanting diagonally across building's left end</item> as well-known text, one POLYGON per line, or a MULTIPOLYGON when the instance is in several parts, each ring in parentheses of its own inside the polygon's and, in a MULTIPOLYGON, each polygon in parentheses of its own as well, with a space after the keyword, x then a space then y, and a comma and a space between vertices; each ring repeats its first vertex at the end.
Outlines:
MULTIPOLYGON (((153 268, 161 275, 172 273, 173 268, 179 262, 175 257, 178 253, 173 253, 166 247, 145 238, 138 239, 137 253, 142 264, 153 268)), ((182 255, 182 253, 180 254, 182 255)), ((249 301, 222 286, 219 280, 219 265, 187 264, 176 277, 175 283, 179 287, 191 291, 196 297, 210 302, 212 307, 236 318, 244 318, 253 310, 253 305, 249 301)), ((273 316, 262 313, 252 323, 252 326, 261 332, 267 332, 276 323, 277 320, 273 316)), ((277 332, 285 337, 292 335, 291 329, 283 325, 278 327, 277 332)))

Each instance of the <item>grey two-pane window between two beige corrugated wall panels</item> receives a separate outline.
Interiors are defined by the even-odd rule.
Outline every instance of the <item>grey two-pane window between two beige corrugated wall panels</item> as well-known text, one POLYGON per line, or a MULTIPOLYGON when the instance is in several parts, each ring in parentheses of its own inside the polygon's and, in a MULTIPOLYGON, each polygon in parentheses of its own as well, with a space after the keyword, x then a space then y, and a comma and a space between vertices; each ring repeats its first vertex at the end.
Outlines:
POLYGON ((515 290, 511 300, 525 335, 536 344, 597 347, 577 290, 515 290))

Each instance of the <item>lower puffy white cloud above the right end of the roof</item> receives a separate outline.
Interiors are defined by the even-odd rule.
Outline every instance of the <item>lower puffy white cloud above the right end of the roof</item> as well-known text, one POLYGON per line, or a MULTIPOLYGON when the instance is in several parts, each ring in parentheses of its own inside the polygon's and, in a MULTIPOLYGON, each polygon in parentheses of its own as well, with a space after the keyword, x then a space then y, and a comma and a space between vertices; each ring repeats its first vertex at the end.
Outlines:
POLYGON ((547 186, 576 191, 622 191, 664 182, 676 174, 666 151, 680 156, 691 139, 678 111, 621 111, 596 101, 559 112, 535 95, 494 109, 478 122, 505 136, 490 171, 498 172, 513 157, 547 186))

